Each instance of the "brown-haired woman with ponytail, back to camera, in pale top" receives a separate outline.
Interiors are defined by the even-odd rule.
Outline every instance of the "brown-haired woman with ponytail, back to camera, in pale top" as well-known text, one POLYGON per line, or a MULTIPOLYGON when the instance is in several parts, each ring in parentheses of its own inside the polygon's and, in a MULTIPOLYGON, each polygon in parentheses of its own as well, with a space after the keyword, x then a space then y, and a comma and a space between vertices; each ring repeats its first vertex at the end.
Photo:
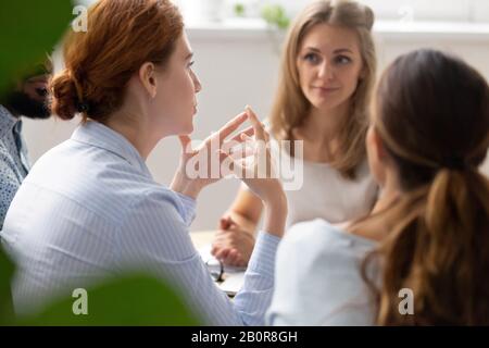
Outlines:
POLYGON ((373 213, 292 228, 277 253, 268 321, 488 325, 485 78, 439 51, 400 57, 375 94, 366 146, 383 187, 373 213))

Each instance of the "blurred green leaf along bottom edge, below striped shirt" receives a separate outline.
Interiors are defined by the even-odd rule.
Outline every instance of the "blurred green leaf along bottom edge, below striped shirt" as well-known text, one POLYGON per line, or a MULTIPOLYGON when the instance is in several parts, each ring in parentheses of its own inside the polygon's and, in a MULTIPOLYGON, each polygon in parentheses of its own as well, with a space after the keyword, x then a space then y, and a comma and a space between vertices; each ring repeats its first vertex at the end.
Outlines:
POLYGON ((18 324, 34 326, 201 324, 172 288, 149 276, 126 276, 87 291, 87 314, 75 315, 73 306, 77 298, 66 298, 51 304, 34 318, 20 321, 18 324))

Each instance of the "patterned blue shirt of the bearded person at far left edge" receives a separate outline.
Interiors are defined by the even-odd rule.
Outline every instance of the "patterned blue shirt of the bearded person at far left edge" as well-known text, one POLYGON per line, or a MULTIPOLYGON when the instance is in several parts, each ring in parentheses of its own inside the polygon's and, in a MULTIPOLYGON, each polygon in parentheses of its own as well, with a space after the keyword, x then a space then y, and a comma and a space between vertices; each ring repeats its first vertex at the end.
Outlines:
POLYGON ((10 203, 29 169, 21 117, 15 117, 0 105, 0 229, 10 203))

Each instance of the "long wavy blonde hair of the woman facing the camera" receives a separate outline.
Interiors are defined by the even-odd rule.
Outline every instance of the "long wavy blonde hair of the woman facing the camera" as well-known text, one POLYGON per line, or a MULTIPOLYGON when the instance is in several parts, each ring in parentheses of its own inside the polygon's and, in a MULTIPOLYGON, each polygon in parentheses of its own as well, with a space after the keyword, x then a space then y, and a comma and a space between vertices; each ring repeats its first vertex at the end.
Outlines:
POLYGON ((304 36, 318 24, 350 28, 359 38, 364 75, 351 97, 351 112, 338 135, 338 156, 330 163, 343 177, 353 179, 358 165, 365 159, 368 100, 377 65, 372 37, 374 13, 368 7, 354 1, 316 1, 294 20, 283 53, 280 82, 269 116, 271 132, 276 139, 294 140, 292 130, 303 125, 309 115, 311 103, 301 90, 296 62, 304 36))

